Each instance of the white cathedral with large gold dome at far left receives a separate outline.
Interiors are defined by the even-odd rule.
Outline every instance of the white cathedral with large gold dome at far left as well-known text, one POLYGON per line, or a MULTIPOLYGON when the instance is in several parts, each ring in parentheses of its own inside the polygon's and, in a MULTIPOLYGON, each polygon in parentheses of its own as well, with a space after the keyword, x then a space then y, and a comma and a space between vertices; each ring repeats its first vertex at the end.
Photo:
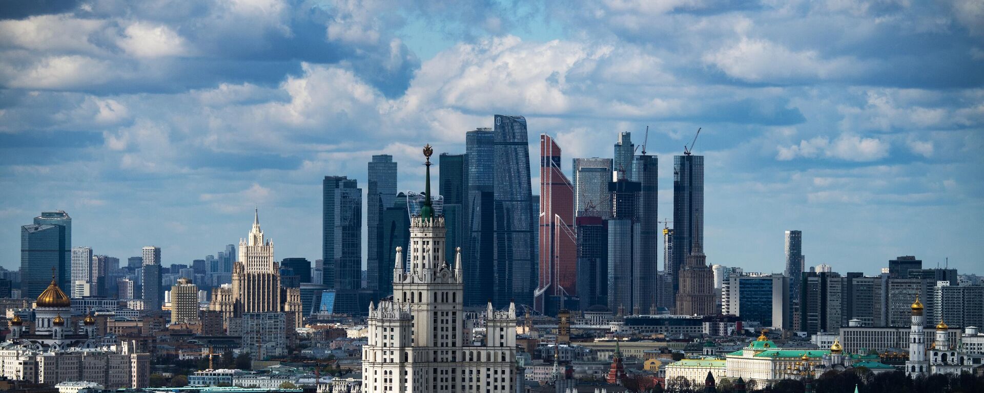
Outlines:
POLYGON ((52 277, 51 283, 34 301, 31 321, 16 314, 11 318, 10 334, 4 345, 8 349, 22 347, 52 352, 93 349, 99 346, 95 332, 95 319, 92 315, 87 315, 81 321, 72 317, 72 301, 52 277), (82 322, 81 326, 79 322, 82 322))

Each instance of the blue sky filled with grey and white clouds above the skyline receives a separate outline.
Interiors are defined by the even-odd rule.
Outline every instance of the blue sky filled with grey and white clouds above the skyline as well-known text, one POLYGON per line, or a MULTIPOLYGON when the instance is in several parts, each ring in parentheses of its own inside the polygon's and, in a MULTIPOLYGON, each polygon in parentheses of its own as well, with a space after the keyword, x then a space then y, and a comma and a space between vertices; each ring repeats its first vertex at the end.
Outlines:
POLYGON ((646 139, 670 219, 672 156, 702 128, 708 263, 781 272, 798 229, 808 266, 984 274, 977 0, 5 2, 0 266, 51 209, 73 246, 166 265, 259 208, 277 259, 314 260, 324 176, 364 189, 393 154, 420 191, 421 146, 463 152, 495 114, 525 116, 532 162, 554 137, 568 173, 646 139))

